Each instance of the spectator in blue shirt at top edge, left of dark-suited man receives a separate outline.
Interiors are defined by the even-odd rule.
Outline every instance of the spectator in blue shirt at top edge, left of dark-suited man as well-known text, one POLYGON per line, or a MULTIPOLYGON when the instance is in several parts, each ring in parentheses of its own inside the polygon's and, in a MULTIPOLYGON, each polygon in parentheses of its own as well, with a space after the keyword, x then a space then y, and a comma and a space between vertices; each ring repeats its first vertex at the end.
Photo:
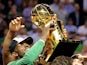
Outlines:
POLYGON ((74 12, 74 6, 69 1, 70 0, 64 0, 64 9, 68 12, 68 15, 74 12))

